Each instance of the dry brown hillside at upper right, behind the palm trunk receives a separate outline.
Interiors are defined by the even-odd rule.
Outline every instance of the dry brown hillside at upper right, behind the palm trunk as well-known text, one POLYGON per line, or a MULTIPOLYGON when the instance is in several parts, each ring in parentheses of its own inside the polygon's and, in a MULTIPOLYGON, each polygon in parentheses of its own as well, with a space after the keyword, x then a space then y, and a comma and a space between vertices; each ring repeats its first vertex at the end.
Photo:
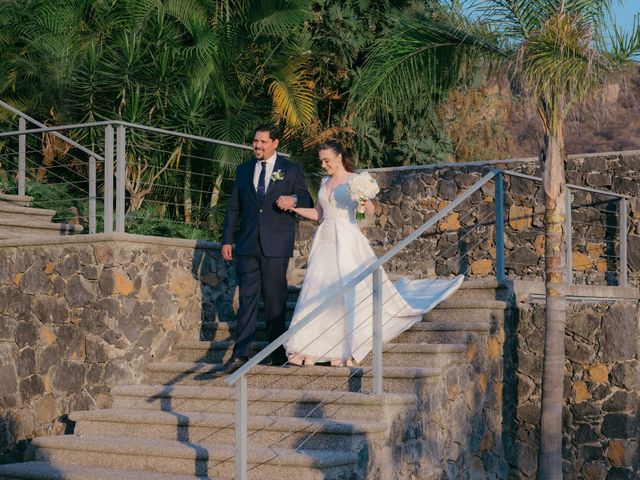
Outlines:
MULTIPOLYGON (((535 108, 505 78, 452 92, 438 115, 452 141, 452 161, 536 156, 544 144, 535 108)), ((568 153, 640 149, 640 69, 569 119, 566 142, 568 153)))

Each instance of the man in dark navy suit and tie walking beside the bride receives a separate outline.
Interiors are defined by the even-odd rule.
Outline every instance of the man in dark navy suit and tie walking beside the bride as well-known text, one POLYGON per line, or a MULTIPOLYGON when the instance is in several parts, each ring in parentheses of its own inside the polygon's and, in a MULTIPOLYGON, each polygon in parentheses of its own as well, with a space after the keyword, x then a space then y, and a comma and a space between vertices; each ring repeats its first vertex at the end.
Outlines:
MULTIPOLYGON (((233 373, 251 354, 258 300, 264 300, 269 342, 284 331, 287 267, 293 255, 295 217, 286 209, 311 207, 302 167, 276 153, 279 133, 259 125, 253 137, 255 158, 238 166, 222 228, 222 257, 236 258, 240 290, 236 343, 223 373, 233 373), (276 205, 279 200, 282 209, 276 205), (232 244, 235 243, 235 252, 232 244)), ((283 347, 271 355, 272 365, 286 363, 283 347)))

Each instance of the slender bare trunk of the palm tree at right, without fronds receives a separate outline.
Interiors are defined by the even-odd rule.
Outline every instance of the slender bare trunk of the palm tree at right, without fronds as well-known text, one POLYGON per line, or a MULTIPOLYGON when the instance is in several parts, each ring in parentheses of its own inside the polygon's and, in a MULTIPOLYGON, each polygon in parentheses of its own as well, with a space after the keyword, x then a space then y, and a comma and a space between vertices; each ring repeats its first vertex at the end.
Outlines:
POLYGON ((546 317, 538 480, 562 480, 562 406, 564 383, 564 332, 566 324, 564 231, 566 216, 564 125, 553 119, 545 134, 543 166, 545 195, 546 317))

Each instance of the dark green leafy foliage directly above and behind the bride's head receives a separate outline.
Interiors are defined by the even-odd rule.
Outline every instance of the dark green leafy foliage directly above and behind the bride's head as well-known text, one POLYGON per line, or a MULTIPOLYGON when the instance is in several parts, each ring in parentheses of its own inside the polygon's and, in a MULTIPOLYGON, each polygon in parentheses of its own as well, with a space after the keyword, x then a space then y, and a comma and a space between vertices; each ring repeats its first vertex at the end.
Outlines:
MULTIPOLYGON (((407 109, 394 105, 387 115, 367 111, 356 116, 360 105, 350 102, 351 89, 360 75, 376 38, 398 20, 393 9, 414 16, 437 5, 435 0, 316 0, 310 21, 318 118, 304 132, 302 149, 310 168, 316 166, 314 146, 329 137, 341 137, 359 167, 380 167, 446 161, 451 144, 435 107, 437 98, 414 98, 407 109), (396 108, 397 107, 397 108, 396 108)), ((317 168, 317 166, 316 166, 317 168)))

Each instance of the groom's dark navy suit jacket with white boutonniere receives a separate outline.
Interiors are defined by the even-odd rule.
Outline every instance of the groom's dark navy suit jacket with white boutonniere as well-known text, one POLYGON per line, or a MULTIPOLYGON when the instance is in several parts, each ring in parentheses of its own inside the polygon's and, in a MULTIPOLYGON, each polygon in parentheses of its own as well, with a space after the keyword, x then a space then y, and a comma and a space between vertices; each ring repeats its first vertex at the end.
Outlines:
POLYGON ((255 254, 260 242, 267 257, 291 257, 296 234, 295 214, 280 210, 276 200, 280 195, 297 195, 298 207, 313 206, 302 166, 278 155, 273 172, 281 170, 284 178, 270 180, 265 198, 260 202, 253 185, 255 165, 253 158, 236 169, 222 227, 222 243, 235 243, 236 255, 255 254))

